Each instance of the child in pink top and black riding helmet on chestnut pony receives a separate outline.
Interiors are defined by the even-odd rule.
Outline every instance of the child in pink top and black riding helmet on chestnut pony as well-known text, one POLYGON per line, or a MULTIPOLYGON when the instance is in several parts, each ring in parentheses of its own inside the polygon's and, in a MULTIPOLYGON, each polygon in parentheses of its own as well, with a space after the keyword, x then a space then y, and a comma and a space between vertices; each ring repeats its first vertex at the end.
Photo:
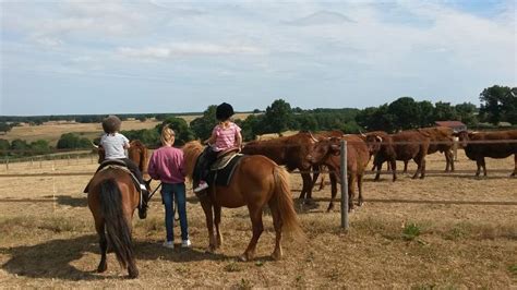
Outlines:
POLYGON ((205 141, 211 144, 211 148, 205 152, 206 162, 202 166, 200 184, 194 189, 199 193, 208 188, 206 177, 209 173, 209 166, 217 159, 217 155, 231 148, 240 148, 242 144, 241 129, 230 121, 233 116, 233 108, 227 102, 217 106, 216 119, 219 123, 212 131, 212 136, 205 141))

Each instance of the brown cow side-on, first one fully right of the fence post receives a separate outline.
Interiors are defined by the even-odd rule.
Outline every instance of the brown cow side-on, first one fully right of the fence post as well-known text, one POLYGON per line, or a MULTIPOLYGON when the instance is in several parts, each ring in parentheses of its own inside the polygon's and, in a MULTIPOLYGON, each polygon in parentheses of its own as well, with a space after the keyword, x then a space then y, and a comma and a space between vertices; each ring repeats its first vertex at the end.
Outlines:
POLYGON ((413 159, 418 168, 412 178, 416 179, 419 173, 420 179, 425 177, 425 156, 430 146, 430 137, 420 132, 402 131, 389 134, 384 138, 375 134, 366 135, 366 143, 370 152, 376 152, 373 159, 377 168, 375 181, 380 179, 381 167, 384 161, 388 161, 392 166, 393 181, 397 180, 396 160, 413 159))

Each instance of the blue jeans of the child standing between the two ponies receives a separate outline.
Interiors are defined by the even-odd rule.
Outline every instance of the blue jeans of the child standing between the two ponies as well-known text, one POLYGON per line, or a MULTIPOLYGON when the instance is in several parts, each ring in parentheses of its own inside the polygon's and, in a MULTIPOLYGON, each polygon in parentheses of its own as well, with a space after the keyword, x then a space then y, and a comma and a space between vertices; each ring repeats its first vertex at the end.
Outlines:
POLYGON ((175 196, 180 216, 181 240, 189 240, 189 225, 187 222, 187 196, 184 183, 161 183, 161 196, 165 205, 165 228, 167 241, 175 240, 175 196))

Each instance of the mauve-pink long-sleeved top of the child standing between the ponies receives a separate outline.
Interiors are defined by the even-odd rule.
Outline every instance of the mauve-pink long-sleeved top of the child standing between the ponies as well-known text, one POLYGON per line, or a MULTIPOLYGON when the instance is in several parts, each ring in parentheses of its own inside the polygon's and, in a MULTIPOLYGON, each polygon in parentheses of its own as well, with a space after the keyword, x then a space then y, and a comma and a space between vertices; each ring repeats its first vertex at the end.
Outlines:
POLYGON ((184 182, 183 152, 169 146, 154 150, 147 172, 153 179, 159 179, 165 183, 184 182))

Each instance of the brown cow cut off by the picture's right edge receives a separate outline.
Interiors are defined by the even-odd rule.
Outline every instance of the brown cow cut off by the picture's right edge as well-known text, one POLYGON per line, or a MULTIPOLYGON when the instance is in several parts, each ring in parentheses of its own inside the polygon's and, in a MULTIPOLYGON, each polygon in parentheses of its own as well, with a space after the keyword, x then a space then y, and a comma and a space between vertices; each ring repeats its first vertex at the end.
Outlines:
POLYGON ((471 160, 476 160, 478 166, 478 170, 476 171, 477 177, 479 177, 481 172, 481 167, 483 167, 483 174, 486 177, 484 157, 506 158, 512 154, 514 154, 514 172, 512 177, 517 174, 517 130, 470 133, 462 131, 457 135, 459 137, 459 144, 465 149, 467 157, 471 160), (494 143, 482 144, 483 141, 494 143), (502 141, 503 143, 501 143, 502 141))

